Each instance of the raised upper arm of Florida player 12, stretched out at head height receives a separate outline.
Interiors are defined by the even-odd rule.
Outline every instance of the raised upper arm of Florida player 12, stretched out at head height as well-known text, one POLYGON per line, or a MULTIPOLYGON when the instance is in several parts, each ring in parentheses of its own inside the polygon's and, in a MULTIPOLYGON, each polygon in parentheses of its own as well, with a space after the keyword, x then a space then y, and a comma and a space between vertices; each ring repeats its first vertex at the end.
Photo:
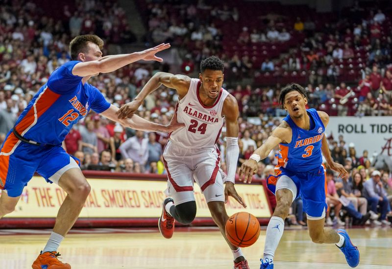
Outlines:
POLYGON ((109 73, 139 60, 162 62, 162 58, 155 56, 155 54, 169 47, 170 44, 162 43, 143 51, 108 55, 95 61, 80 62, 73 67, 72 74, 79 77, 87 77, 98 73, 109 73))

